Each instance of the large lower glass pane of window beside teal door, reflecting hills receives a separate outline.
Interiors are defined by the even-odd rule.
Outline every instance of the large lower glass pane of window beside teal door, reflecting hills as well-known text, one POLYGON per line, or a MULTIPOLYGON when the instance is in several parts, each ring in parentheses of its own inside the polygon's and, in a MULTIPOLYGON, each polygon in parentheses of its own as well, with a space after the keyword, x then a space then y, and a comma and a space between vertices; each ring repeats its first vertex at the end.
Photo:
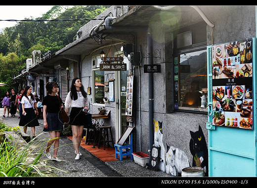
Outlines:
MULTIPOLYGON (((206 104, 201 107, 202 96, 207 96, 207 51, 200 50, 179 54, 174 72, 176 109, 207 111, 206 104)), ((175 102, 174 102, 175 103, 175 102)))

